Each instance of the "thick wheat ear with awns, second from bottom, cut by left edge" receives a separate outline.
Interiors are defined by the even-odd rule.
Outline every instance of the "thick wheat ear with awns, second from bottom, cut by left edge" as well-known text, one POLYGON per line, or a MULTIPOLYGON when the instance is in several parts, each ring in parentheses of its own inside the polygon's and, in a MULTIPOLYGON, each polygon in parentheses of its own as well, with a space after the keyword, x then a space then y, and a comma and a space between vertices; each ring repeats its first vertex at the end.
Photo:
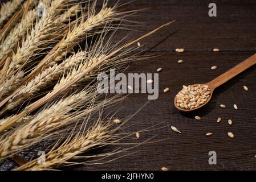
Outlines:
POLYGON ((100 107, 113 104, 115 101, 118 101, 116 97, 104 102, 97 101, 95 91, 88 88, 43 109, 29 121, 22 119, 19 122, 24 125, 1 137, 0 161, 58 133, 63 126, 77 122, 87 114, 93 114, 100 107))

